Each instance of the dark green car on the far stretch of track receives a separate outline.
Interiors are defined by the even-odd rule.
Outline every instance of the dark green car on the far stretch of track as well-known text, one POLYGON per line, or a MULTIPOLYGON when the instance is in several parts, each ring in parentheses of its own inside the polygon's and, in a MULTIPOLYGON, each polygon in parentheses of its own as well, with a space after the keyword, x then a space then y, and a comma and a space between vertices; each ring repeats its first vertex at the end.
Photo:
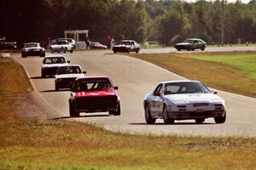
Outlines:
POLYGON ((181 49, 187 49, 188 51, 195 49, 201 49, 202 51, 205 50, 207 46, 207 42, 204 42, 198 38, 187 38, 183 42, 175 44, 174 48, 177 48, 177 51, 181 49))

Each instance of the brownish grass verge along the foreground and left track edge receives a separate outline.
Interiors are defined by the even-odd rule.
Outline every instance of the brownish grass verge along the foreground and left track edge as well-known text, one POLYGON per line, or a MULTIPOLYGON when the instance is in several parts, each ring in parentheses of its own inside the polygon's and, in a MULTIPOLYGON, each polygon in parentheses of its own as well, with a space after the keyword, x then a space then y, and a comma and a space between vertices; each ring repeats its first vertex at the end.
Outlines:
POLYGON ((23 69, 0 57, 0 169, 253 169, 255 138, 143 136, 82 122, 18 116, 32 87, 23 69))

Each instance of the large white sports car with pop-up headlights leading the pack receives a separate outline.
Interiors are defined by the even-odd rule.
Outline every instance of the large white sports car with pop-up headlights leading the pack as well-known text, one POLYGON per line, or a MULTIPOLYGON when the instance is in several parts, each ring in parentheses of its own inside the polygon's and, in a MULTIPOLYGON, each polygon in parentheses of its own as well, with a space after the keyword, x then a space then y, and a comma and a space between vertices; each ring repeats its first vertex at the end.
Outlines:
POLYGON ((143 105, 148 124, 154 124, 157 118, 166 124, 186 119, 202 123, 208 117, 216 123, 226 120, 224 99, 197 81, 160 82, 146 95, 143 105))

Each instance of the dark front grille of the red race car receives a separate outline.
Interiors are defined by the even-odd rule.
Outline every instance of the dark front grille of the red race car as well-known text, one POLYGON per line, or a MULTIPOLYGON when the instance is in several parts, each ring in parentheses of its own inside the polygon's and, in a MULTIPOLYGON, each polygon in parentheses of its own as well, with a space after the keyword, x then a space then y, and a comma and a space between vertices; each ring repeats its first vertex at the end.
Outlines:
POLYGON ((108 110, 116 109, 118 105, 117 96, 93 96, 78 98, 76 104, 79 110, 108 110))

